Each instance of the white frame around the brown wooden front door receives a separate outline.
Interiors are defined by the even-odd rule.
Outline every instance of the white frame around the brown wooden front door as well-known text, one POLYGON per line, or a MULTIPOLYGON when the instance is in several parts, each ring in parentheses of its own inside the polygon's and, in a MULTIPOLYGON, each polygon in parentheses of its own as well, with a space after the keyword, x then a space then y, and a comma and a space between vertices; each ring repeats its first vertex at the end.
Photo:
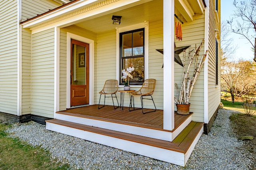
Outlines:
POLYGON ((88 39, 88 38, 82 37, 80 35, 76 35, 76 34, 67 32, 66 108, 70 108, 71 39, 75 39, 75 40, 82 41, 84 43, 89 44, 89 105, 93 105, 94 104, 94 41, 92 39, 88 39))

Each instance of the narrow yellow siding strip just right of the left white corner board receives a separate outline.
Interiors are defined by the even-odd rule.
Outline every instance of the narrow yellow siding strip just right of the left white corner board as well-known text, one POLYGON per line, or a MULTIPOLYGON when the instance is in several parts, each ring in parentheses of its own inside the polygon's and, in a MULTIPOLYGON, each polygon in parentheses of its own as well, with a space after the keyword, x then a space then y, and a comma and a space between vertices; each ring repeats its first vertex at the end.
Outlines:
POLYGON ((22 29, 22 115, 31 113, 31 31, 22 29))

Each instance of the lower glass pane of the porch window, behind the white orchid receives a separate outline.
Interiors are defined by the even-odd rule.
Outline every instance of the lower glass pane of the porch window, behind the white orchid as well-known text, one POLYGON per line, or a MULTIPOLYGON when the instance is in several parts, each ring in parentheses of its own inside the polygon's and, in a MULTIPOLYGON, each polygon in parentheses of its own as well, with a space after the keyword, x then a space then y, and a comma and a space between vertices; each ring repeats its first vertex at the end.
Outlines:
POLYGON ((123 59, 123 68, 134 66, 134 71, 131 73, 133 78, 130 82, 144 81, 144 57, 123 59))

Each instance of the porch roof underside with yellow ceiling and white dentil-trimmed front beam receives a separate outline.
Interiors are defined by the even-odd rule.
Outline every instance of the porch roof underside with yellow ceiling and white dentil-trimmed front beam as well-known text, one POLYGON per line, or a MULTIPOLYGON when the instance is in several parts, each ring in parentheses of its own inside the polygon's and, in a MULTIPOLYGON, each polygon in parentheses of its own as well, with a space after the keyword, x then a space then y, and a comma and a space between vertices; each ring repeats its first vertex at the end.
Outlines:
MULTIPOLYGON (((192 21, 194 14, 203 14, 204 12, 203 0, 174 1, 176 14, 179 17, 182 16, 184 22, 192 21)), ((87 1, 76 0, 75 3, 71 2, 52 10, 52 12, 46 12, 30 20, 23 21, 22 25, 24 28, 30 28, 31 30, 76 25, 94 33, 100 33, 113 30, 116 27, 143 23, 144 21, 163 20, 163 0, 134 0, 134 2, 118 0, 117 2, 111 1, 112 5, 107 4, 102 7, 98 7, 97 2, 93 0, 91 4, 88 4, 87 1), (78 3, 84 5, 84 7, 78 3), (112 24, 113 15, 122 16, 120 25, 112 24)))

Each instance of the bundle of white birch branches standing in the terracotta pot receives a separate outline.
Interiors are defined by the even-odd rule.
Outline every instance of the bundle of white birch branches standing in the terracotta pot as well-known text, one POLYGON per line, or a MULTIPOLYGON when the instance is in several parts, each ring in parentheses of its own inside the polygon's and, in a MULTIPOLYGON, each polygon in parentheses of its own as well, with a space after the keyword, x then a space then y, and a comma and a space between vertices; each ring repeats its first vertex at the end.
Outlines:
MULTIPOLYGON (((177 93, 177 96, 179 97, 178 100, 176 98, 174 100, 176 104, 189 104, 189 98, 190 98, 192 90, 194 88, 194 84, 196 83, 199 73, 201 72, 201 69, 204 65, 204 61, 205 61, 205 58, 206 58, 206 55, 208 52, 208 51, 206 51, 206 53, 202 56, 202 58, 198 64, 197 63, 198 53, 199 53, 203 43, 204 43, 204 39, 202 40, 202 43, 194 51, 191 59, 189 58, 188 68, 187 68, 186 72, 185 72, 185 50, 184 50, 184 54, 183 54, 183 67, 184 68, 183 68, 183 74, 182 74, 180 94, 178 94, 178 86, 175 83, 176 93, 177 93), (189 74, 190 66, 192 66, 192 63, 193 63, 195 57, 196 57, 196 59, 195 59, 195 65, 194 65, 194 69, 195 69, 194 74, 193 74, 192 78, 189 78, 188 74, 189 74)), ((190 52, 191 51, 189 51, 189 55, 190 55, 190 52)))

